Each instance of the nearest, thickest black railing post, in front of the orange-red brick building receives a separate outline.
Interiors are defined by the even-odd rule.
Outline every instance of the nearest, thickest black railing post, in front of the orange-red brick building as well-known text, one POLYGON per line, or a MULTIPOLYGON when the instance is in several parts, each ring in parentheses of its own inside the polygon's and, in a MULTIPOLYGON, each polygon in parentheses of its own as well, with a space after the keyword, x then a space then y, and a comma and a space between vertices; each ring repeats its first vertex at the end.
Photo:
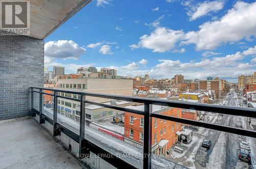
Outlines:
POLYGON ((151 168, 152 150, 152 104, 144 105, 144 133, 143 133, 143 168, 151 168))

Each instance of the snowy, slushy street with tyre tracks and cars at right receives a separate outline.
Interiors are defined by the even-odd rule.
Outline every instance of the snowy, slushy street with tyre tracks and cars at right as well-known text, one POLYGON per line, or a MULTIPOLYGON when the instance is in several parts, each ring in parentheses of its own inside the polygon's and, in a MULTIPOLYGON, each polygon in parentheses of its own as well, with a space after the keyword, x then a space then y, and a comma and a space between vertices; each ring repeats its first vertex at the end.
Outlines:
MULTIPOLYGON (((228 106, 239 106, 236 97, 237 93, 231 91, 224 103, 228 106)), ((208 123, 233 127, 235 127, 235 124, 240 124, 244 129, 248 129, 248 120, 245 117, 221 114, 211 114, 211 116, 208 123)), ((199 128, 199 131, 193 132, 193 139, 195 142, 185 145, 185 148, 187 148, 185 153, 180 158, 172 159, 173 161, 189 168, 255 168, 255 138, 199 128), (211 140, 210 149, 207 150, 201 147, 203 139, 211 140), (240 140, 250 143, 251 164, 238 159, 240 140)))

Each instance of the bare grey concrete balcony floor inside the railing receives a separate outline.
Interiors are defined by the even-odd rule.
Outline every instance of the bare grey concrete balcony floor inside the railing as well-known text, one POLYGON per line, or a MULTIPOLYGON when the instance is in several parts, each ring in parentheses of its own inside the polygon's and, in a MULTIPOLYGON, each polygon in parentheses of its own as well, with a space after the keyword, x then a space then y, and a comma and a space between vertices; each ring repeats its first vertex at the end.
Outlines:
POLYGON ((34 119, 0 121, 0 168, 87 168, 34 119))

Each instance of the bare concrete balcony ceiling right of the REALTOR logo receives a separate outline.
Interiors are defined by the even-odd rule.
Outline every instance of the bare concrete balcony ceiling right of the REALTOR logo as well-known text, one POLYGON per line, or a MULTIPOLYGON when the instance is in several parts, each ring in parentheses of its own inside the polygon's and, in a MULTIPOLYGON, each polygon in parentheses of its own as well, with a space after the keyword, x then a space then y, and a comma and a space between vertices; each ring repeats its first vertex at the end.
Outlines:
POLYGON ((91 0, 31 0, 30 37, 45 39, 91 0))

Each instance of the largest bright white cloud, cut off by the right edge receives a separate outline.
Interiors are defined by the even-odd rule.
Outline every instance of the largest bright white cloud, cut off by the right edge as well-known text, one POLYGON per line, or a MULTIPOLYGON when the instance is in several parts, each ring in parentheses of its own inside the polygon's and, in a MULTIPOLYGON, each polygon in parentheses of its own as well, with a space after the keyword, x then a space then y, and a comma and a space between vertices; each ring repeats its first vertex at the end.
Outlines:
POLYGON ((256 36, 256 2, 237 2, 220 20, 205 22, 199 28, 186 33, 181 44, 196 44, 197 50, 215 49, 226 42, 256 36))

